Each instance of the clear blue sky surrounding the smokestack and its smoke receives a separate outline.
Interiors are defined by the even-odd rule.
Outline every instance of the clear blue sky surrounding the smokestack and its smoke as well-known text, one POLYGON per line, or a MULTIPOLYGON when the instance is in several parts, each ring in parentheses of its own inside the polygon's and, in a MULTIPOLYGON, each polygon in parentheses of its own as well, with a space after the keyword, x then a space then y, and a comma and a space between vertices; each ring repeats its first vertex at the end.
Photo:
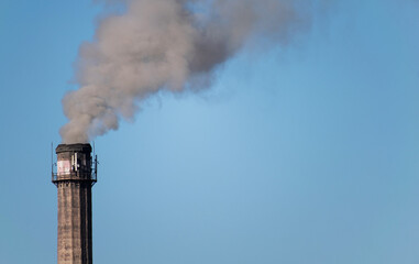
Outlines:
MULTIPOLYGON (((419 263, 419 2, 330 1, 96 141, 93 262, 419 263)), ((0 1, 0 263, 56 263, 51 142, 88 0, 0 1)))

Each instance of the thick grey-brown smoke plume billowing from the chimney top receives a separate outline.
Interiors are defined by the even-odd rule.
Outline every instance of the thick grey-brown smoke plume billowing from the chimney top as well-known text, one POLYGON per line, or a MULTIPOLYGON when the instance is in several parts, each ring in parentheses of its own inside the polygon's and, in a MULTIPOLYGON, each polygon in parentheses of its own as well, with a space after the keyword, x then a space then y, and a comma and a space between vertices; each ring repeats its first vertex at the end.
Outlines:
POLYGON ((161 91, 199 90, 249 42, 284 44, 308 25, 310 0, 107 0, 80 45, 75 80, 63 98, 64 143, 84 143, 132 120, 161 91), (121 9, 122 7, 122 9, 121 9), (117 10, 117 8, 115 8, 117 10), (121 11, 123 10, 123 11, 121 11))

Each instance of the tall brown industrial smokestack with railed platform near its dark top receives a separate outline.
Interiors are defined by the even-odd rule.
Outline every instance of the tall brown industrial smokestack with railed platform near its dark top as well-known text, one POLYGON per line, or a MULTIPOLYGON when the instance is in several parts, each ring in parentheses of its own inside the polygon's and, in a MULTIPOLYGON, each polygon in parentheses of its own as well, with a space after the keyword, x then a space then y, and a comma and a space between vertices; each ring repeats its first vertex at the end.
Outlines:
POLYGON ((56 147, 58 189, 58 264, 91 264, 91 187, 97 182, 97 158, 90 144, 56 147))

